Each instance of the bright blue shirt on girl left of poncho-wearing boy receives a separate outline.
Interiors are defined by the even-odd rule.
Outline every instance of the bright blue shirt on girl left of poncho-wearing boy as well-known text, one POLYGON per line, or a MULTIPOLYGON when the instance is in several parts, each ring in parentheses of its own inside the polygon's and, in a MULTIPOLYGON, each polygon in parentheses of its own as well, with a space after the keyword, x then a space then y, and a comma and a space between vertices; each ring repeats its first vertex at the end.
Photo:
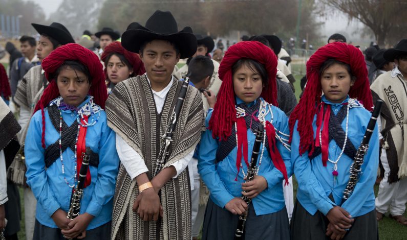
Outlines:
MULTIPOLYGON (((80 105, 89 102, 89 97, 80 105)), ((98 113, 95 114, 96 116, 98 113)), ((95 117, 96 117, 95 116, 95 117)), ((64 121, 70 126, 76 121, 77 114, 71 110, 62 110, 64 121)), ((91 119, 91 118, 90 118, 91 119)), ((59 139, 57 131, 50 121, 48 109, 45 109, 45 145, 46 148, 59 139)), ((42 121, 41 111, 37 111, 30 122, 25 145, 27 184, 37 199, 36 219, 42 225, 58 228, 51 215, 59 208, 68 211, 72 188, 64 180, 60 158, 46 169, 44 152, 41 147, 42 121)), ((80 214, 87 212, 94 216, 87 230, 99 227, 112 219, 113 195, 118 173, 119 157, 116 152, 115 133, 107 125, 106 113, 101 111, 99 120, 88 127, 86 146, 99 154, 99 165, 89 165, 92 182, 84 188, 80 214)), ((65 177, 73 184, 74 152, 67 148, 62 153, 65 177)), ((79 171, 79 169, 78 169, 79 171)))

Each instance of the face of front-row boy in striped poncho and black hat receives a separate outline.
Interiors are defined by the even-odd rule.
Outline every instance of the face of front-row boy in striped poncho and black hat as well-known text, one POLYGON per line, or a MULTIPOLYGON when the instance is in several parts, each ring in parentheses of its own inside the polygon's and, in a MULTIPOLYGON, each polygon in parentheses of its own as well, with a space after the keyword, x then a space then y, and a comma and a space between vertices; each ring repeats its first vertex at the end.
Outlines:
POLYGON ((165 83, 171 79, 175 64, 180 60, 175 47, 165 40, 148 42, 140 53, 148 79, 155 83, 165 83))

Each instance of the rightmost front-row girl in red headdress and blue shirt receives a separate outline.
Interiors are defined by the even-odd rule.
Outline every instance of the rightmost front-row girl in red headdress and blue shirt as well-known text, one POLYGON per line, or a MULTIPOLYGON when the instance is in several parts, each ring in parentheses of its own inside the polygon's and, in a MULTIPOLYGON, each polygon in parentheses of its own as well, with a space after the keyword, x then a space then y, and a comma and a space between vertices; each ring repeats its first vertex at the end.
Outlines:
POLYGON ((377 239, 377 128, 359 181, 351 197, 342 201, 373 106, 363 55, 346 43, 327 44, 308 60, 307 79, 289 121, 298 181, 291 239, 377 239))

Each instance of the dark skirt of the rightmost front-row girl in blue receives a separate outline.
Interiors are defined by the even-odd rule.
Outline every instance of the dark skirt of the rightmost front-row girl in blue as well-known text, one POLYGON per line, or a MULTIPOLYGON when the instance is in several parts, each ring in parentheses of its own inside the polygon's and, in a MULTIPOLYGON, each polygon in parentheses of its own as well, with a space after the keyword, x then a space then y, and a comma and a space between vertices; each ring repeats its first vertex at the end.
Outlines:
MULTIPOLYGON (((376 210, 354 218, 352 227, 342 240, 378 240, 379 232, 376 210)), ((298 202, 295 202, 291 219, 291 240, 330 240, 325 235, 329 220, 320 211, 311 215, 298 202)))

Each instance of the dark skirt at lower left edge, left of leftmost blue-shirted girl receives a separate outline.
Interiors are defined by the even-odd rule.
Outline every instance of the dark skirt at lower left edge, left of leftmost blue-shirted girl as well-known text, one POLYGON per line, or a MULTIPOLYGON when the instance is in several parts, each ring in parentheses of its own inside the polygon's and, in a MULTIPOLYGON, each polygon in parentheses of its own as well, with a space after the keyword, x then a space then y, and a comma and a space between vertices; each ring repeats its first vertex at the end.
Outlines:
POLYGON ((20 195, 16 184, 7 180, 7 197, 9 200, 4 204, 7 226, 4 235, 10 236, 20 230, 21 205, 20 195))

